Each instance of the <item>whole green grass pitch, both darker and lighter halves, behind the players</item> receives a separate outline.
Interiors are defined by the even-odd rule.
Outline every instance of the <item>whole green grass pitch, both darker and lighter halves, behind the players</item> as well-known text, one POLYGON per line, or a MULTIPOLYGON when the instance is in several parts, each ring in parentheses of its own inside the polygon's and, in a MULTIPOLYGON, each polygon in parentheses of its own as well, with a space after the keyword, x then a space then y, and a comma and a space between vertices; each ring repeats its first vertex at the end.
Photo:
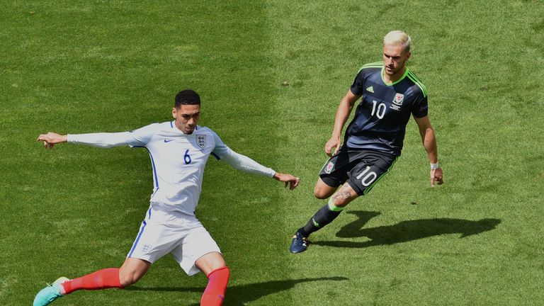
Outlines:
MULTIPOLYGON (((143 149, 42 132, 169 120, 177 91, 237 152, 302 179, 210 159, 198 216, 232 268, 225 305, 544 305, 542 1, 9 1, 0 11, 0 304, 119 266, 147 209, 143 149), (388 30, 414 40, 446 184, 429 188, 416 125, 393 171, 310 250, 290 235, 334 111, 388 30)), ((166 257, 127 290, 53 305, 197 305, 206 280, 166 257)))

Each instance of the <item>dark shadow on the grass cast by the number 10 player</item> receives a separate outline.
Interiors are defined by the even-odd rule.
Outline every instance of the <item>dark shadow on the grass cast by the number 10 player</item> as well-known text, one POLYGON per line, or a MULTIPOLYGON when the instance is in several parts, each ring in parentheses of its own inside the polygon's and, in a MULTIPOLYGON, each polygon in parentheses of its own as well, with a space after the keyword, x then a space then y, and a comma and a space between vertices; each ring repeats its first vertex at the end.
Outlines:
POLYGON ((478 221, 437 218, 402 221, 396 225, 372 227, 363 229, 365 224, 380 215, 380 212, 352 211, 347 212, 358 216, 358 220, 342 227, 336 237, 357 238, 368 237, 367 242, 326 241, 312 242, 321 246, 336 246, 348 248, 364 248, 386 244, 409 242, 416 239, 440 236, 442 234, 461 234, 460 238, 480 234, 495 229, 501 222, 499 219, 482 219, 478 221))

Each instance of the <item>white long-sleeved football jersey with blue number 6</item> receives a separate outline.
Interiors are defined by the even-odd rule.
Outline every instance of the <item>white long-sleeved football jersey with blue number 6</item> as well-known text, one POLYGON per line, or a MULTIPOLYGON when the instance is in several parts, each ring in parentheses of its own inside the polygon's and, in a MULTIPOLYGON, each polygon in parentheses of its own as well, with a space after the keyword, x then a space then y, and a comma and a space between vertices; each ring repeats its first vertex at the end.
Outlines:
POLYGON ((210 154, 242 171, 265 176, 276 174, 233 152, 210 128, 198 125, 191 135, 186 135, 176 128, 174 121, 154 123, 130 132, 68 135, 68 142, 94 147, 147 148, 154 182, 150 201, 163 209, 188 215, 194 215, 198 205, 204 167, 210 154))

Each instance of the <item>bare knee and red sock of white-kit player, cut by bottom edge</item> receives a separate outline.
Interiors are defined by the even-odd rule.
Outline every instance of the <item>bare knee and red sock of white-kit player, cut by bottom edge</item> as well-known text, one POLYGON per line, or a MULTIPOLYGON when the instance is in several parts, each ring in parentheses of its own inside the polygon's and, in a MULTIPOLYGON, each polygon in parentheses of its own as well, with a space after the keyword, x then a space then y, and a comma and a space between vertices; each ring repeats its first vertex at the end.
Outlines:
POLYGON ((222 305, 230 275, 223 256, 218 252, 208 253, 200 257, 195 265, 208 277, 208 285, 200 299, 200 306, 222 305))

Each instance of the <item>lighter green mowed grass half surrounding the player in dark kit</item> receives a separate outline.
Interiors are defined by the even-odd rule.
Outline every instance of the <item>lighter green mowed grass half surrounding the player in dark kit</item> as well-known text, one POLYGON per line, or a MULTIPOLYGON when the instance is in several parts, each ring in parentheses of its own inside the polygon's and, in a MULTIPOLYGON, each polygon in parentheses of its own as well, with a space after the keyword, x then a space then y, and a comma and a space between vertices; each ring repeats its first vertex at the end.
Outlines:
POLYGON ((289 84, 278 106, 299 130, 285 138, 293 149, 283 154, 302 156, 290 161, 303 181, 285 213, 285 232, 324 204, 312 200, 312 189, 334 111, 356 68, 380 59, 389 30, 406 30, 414 40, 409 67, 429 89, 446 175, 445 186, 428 186, 428 161, 409 123, 392 175, 315 233, 309 251, 290 257, 293 279, 347 279, 301 280, 293 305, 540 305, 535 225, 542 208, 534 204, 543 176, 534 167, 542 137, 523 126, 542 126, 542 99, 528 98, 539 96, 541 85, 515 80, 522 72, 531 80, 543 74, 534 69, 542 64, 542 8, 531 1, 493 1, 493 9, 482 1, 446 2, 271 5, 276 71, 289 84))

